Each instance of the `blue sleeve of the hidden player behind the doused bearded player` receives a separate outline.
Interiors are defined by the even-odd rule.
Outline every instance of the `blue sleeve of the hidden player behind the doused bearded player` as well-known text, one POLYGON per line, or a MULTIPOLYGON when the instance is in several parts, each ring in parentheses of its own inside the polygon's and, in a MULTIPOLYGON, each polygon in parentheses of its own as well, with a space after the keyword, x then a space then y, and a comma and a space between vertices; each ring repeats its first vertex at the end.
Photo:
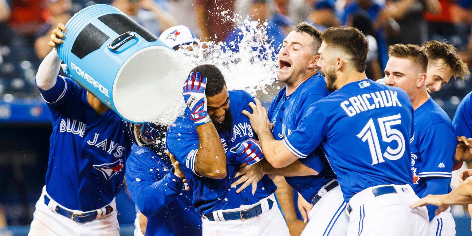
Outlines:
POLYGON ((183 189, 182 179, 174 175, 173 169, 166 175, 159 175, 162 167, 158 158, 148 152, 133 153, 126 161, 126 183, 131 198, 139 211, 149 217, 167 206, 183 189))

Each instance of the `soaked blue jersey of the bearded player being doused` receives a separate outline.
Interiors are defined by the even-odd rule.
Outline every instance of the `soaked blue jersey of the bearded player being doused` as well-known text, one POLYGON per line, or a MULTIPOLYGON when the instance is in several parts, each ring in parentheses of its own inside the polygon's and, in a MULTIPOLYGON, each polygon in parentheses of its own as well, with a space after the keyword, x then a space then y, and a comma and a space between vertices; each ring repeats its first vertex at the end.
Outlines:
MULTIPOLYGON (((262 177, 259 181, 254 195, 251 193, 251 188, 246 188, 241 193, 236 194, 237 188, 230 187, 237 180, 235 175, 241 164, 236 160, 238 144, 254 137, 249 119, 241 114, 242 110, 251 111, 248 106, 251 101, 254 101, 253 97, 247 92, 242 90, 229 91, 229 109, 231 110, 233 124, 230 131, 219 133, 227 160, 228 174, 223 179, 201 177, 195 173, 194 158, 199 142, 196 126, 190 119, 188 108, 185 109, 185 114, 177 118, 176 122, 167 131, 166 143, 168 150, 175 155, 179 163, 182 163, 185 178, 194 194, 193 203, 199 214, 254 204, 275 192, 276 186, 267 176, 262 177)), ((228 115, 226 119, 229 119, 228 115)))

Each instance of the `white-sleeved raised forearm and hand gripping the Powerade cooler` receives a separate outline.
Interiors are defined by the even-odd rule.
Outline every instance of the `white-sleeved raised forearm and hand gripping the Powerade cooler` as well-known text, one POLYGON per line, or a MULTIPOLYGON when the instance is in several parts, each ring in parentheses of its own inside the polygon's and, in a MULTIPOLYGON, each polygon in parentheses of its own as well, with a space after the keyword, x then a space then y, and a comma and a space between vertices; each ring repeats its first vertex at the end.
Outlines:
POLYGON ((59 74, 61 59, 58 58, 57 45, 64 42, 67 33, 66 26, 59 24, 58 27, 52 31, 51 41, 49 46, 54 47, 53 50, 44 58, 38 68, 36 74, 36 84, 42 90, 50 90, 56 84, 56 79, 59 74))

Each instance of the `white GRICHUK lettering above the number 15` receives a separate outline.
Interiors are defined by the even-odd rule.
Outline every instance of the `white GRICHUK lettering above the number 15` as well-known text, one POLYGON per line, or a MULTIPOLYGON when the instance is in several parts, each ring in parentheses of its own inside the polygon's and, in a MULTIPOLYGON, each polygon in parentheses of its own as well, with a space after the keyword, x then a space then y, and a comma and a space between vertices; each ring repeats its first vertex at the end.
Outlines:
POLYGON ((349 98, 341 102, 341 108, 346 111, 350 117, 362 111, 372 110, 382 107, 401 107, 402 104, 396 97, 397 92, 391 90, 382 90, 375 93, 365 93, 349 98))

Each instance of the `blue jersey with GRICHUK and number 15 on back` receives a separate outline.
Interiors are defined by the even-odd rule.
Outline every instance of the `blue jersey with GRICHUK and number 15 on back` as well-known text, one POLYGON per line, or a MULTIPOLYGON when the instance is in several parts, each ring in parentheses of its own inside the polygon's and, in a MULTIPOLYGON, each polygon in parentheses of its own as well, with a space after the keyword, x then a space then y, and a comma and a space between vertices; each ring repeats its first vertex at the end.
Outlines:
POLYGON ((413 106, 400 88, 369 79, 317 101, 284 142, 308 156, 321 143, 346 202, 376 185, 413 185, 409 140, 413 106))

